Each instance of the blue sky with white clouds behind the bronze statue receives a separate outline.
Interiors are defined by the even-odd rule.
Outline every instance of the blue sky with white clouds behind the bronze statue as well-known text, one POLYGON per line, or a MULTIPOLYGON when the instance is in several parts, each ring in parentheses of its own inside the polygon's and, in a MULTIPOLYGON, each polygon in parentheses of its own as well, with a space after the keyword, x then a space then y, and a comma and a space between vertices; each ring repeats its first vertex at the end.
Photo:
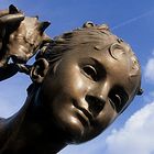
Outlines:
MULTIPOLYGON (((154 154, 154 1, 153 0, 0 0, 0 9, 15 4, 25 15, 48 20, 51 37, 79 28, 86 21, 107 23, 128 42, 142 67, 144 95, 95 140, 70 145, 59 154, 154 154)), ((0 116, 16 112, 31 80, 16 75, 0 82, 0 116)))

